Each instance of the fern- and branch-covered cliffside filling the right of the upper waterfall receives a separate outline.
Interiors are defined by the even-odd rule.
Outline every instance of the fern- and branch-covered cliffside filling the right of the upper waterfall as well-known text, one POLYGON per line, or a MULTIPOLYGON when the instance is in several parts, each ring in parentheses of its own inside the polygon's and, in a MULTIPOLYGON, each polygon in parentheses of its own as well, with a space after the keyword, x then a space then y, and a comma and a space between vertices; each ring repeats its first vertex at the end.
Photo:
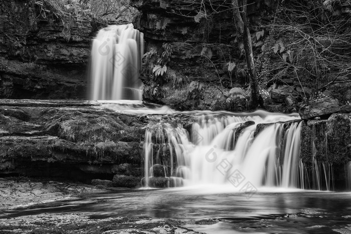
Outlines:
MULTIPOLYGON (((152 79, 150 68, 160 67, 149 60, 150 54, 145 57, 145 100, 180 109, 241 111, 250 107, 236 105, 233 100, 238 98, 229 91, 255 90, 255 82, 249 81, 257 76, 264 108, 291 112, 327 95, 323 92, 337 83, 349 84, 351 8, 347 1, 248 1, 247 6, 246 1, 131 2, 142 13, 135 25, 145 33, 148 52, 161 58, 164 42, 173 52, 167 71, 162 71, 163 80, 152 79), (247 52, 240 33, 245 15, 250 32, 247 43, 252 45, 247 44, 247 52), (202 88, 201 94, 180 106, 177 103, 189 99, 187 90, 193 82, 202 88), (284 93, 282 102, 277 101, 276 93, 284 93), (180 96, 178 102, 173 101, 174 96, 180 96), (216 100, 226 105, 217 106, 216 100)), ((250 96, 243 97, 254 98, 250 96)))

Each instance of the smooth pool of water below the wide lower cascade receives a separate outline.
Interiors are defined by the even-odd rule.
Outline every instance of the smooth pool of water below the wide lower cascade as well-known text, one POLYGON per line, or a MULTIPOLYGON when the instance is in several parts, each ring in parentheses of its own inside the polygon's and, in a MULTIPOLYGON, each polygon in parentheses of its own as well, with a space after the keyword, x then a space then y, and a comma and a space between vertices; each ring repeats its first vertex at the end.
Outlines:
POLYGON ((351 192, 198 188, 84 193, 77 199, 0 210, 0 218, 40 213, 90 213, 91 218, 152 216, 200 220, 206 233, 351 233, 351 192))

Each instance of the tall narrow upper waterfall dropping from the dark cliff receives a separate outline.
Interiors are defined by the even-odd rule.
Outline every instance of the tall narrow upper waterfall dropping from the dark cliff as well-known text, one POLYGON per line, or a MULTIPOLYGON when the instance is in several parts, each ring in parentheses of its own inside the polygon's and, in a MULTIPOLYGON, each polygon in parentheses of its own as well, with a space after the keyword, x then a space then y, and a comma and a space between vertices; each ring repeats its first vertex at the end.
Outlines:
POLYGON ((141 100, 143 34, 132 24, 101 29, 91 51, 92 100, 141 100))

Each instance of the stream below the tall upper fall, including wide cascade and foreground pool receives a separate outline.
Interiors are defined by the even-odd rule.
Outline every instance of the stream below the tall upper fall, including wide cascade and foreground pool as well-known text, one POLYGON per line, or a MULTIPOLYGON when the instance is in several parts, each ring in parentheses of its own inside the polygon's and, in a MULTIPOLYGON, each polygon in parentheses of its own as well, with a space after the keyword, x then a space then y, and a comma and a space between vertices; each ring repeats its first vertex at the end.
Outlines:
MULTIPOLYGON (((97 219, 175 218, 206 233, 350 233, 350 192, 302 189, 313 187, 305 182, 296 114, 177 113, 140 101, 100 103, 156 119, 145 131, 145 187, 0 208, 0 218, 73 212, 97 219), (191 117, 189 126, 179 121, 181 115, 191 117), (152 189, 153 180, 174 188, 152 189), (201 219, 216 223, 194 224, 201 219)), ((328 171, 316 167, 318 174, 328 171)), ((351 164, 345 171, 350 181, 351 164)))

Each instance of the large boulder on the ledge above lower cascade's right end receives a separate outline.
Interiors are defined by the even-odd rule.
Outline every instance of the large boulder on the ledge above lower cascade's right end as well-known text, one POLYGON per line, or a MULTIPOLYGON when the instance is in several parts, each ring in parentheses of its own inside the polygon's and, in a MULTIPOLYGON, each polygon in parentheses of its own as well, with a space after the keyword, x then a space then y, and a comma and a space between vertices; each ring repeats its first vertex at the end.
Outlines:
POLYGON ((340 111, 339 102, 332 97, 319 98, 310 101, 308 106, 299 110, 301 119, 311 119, 317 116, 325 117, 340 111))

